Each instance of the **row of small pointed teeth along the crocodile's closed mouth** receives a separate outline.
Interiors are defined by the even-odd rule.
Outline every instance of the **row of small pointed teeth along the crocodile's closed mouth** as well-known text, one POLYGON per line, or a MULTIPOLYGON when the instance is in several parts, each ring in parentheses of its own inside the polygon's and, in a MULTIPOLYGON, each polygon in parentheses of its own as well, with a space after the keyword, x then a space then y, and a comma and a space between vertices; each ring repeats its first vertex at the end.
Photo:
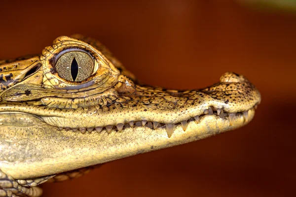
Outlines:
MULTIPOLYGON (((257 106, 254 107, 255 109, 257 108, 257 106)), ((229 117, 229 122, 230 125, 232 125, 232 123, 234 122, 234 118, 235 116, 238 115, 242 115, 245 119, 245 122, 248 122, 249 119, 249 113, 248 111, 243 111, 243 112, 237 112, 237 113, 227 113, 224 112, 222 109, 216 109, 213 106, 210 106, 208 109, 204 110, 204 114, 202 115, 197 115, 194 116, 193 118, 190 118, 188 120, 182 121, 180 123, 176 123, 176 124, 163 124, 163 123, 159 123, 159 122, 148 122, 147 120, 142 120, 142 121, 130 121, 126 124, 117 124, 115 127, 117 128, 117 131, 122 132, 125 128, 133 128, 133 127, 148 127, 150 129, 155 130, 156 128, 166 128, 168 137, 171 137, 173 131, 174 131, 174 127, 175 125, 181 125, 183 131, 186 131, 186 127, 187 127, 187 122, 191 122, 191 121, 195 121, 196 124, 199 123, 199 119, 200 116, 203 115, 217 115, 220 118, 225 118, 225 117, 229 117)), ((63 130, 65 129, 66 131, 80 131, 81 133, 85 133, 85 132, 89 132, 91 133, 92 131, 97 131, 97 132, 101 132, 104 129, 110 134, 113 130, 114 126, 113 125, 108 125, 106 127, 96 127, 96 128, 62 128, 59 127, 59 130, 63 130)))

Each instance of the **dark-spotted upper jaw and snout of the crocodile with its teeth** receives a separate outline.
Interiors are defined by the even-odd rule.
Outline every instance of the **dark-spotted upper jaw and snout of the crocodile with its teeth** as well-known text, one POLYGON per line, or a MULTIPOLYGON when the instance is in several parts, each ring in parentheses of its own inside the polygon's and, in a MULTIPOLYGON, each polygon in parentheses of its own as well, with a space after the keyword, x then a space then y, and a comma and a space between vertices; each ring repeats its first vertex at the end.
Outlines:
POLYGON ((238 115, 248 122, 248 111, 260 102, 260 94, 255 86, 243 76, 231 72, 222 75, 219 83, 199 91, 167 91, 134 84, 126 87, 126 84, 133 82, 129 80, 129 83, 117 83, 103 92, 95 88, 82 91, 82 96, 78 92, 75 94, 78 98, 71 98, 73 94, 69 93, 67 98, 65 90, 53 94, 52 89, 38 89, 35 86, 31 88, 34 101, 24 97, 28 94, 25 91, 28 87, 24 88, 20 84, 19 88, 16 85, 14 89, 5 91, 1 97, 9 102, 17 90, 18 98, 27 99, 26 103, 9 102, 10 107, 0 110, 34 114, 48 125, 83 133, 104 129, 109 132, 122 131, 134 124, 154 129, 164 124, 163 127, 172 133, 174 125, 186 128, 184 125, 187 122, 199 122, 204 115, 228 119, 229 124, 238 115), (42 94, 39 94, 40 90, 43 90, 42 94))

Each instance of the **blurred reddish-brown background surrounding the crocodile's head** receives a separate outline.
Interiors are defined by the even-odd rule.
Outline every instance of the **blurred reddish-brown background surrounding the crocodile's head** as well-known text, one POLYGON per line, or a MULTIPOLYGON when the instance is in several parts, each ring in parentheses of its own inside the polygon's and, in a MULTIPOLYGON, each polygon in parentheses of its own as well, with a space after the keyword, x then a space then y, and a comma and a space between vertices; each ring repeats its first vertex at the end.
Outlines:
MULTIPOLYGON (((246 127, 44 184, 44 197, 289 197, 296 181, 296 13, 231 0, 1 1, 0 59, 60 35, 99 39, 145 83, 202 88, 247 76, 262 102, 246 127)), ((294 195, 293 195, 294 193, 294 195)))

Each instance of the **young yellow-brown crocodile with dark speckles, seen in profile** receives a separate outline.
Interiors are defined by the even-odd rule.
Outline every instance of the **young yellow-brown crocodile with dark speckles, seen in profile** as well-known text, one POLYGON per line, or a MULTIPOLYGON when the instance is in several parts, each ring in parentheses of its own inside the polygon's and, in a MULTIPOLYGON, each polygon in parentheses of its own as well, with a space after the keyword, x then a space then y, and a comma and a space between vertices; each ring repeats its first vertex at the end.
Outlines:
POLYGON ((60 36, 41 55, 0 61, 0 197, 248 124, 260 93, 243 75, 212 86, 144 85, 99 41, 60 36))

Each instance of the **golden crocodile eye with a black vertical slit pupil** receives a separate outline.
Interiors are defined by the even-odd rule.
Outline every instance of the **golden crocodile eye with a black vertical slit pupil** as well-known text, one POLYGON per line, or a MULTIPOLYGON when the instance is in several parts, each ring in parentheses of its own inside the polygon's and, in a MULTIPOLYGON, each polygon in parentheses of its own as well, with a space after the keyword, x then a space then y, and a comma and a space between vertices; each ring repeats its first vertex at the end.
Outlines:
POLYGON ((82 51, 69 51, 58 55, 55 63, 59 76, 73 82, 87 79, 94 70, 93 58, 82 51))

